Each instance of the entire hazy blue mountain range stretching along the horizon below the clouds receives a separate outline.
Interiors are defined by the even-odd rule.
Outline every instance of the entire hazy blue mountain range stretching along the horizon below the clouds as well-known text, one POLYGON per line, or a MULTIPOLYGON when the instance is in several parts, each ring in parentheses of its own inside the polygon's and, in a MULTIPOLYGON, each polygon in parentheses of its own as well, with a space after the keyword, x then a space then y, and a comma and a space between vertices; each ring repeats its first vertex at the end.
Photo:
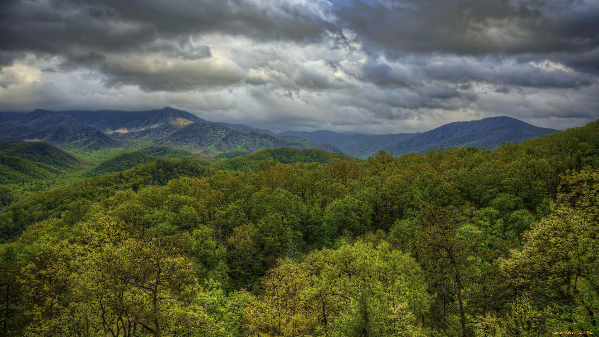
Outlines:
POLYGON ((165 108, 143 112, 48 112, 6 114, 0 140, 43 141, 59 148, 101 149, 123 145, 159 145, 214 155, 241 154, 272 148, 317 148, 367 158, 377 151, 394 155, 423 153, 437 148, 473 146, 494 148, 502 142, 522 142, 558 130, 540 128, 506 116, 453 122, 425 133, 367 135, 270 130, 244 124, 211 122, 192 113, 165 108), (7 121, 7 118, 12 118, 7 121))

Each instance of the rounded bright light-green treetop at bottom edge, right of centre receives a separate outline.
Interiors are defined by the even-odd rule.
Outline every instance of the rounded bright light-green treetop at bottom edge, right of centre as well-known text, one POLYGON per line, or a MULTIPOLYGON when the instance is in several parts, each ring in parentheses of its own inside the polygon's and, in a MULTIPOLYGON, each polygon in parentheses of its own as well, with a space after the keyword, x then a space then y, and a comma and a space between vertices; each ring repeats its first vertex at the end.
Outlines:
POLYGON ((422 270, 387 242, 342 240, 338 249, 312 252, 306 263, 316 275, 311 292, 322 302, 325 328, 335 335, 385 336, 393 303, 411 303, 418 317, 428 310, 422 270))

